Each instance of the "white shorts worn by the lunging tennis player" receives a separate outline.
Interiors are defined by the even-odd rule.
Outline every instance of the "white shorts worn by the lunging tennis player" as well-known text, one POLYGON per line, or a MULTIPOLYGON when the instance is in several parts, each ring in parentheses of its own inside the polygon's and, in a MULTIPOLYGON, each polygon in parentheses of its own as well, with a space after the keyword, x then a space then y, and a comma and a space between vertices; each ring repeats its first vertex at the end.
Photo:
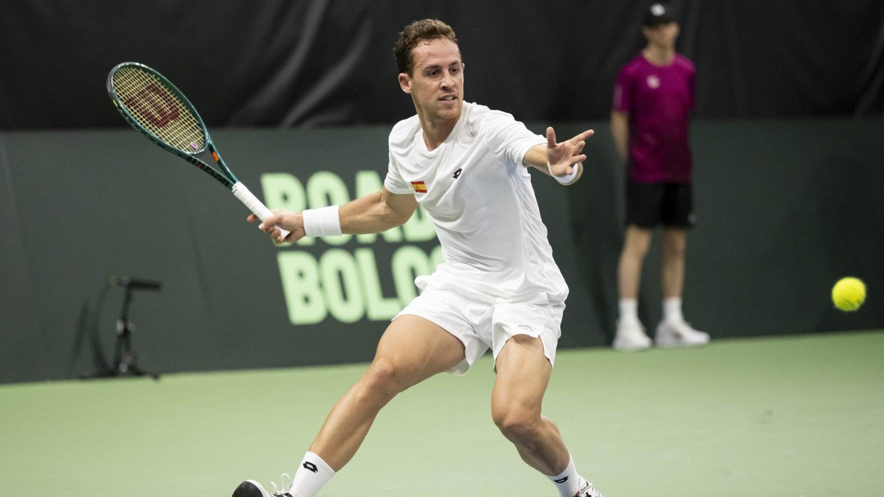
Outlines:
POLYGON ((460 375, 489 348, 496 362, 514 335, 539 336, 544 355, 555 364, 564 311, 564 303, 550 303, 538 295, 506 299, 434 279, 393 319, 403 314, 420 316, 461 340, 466 357, 448 370, 460 375))

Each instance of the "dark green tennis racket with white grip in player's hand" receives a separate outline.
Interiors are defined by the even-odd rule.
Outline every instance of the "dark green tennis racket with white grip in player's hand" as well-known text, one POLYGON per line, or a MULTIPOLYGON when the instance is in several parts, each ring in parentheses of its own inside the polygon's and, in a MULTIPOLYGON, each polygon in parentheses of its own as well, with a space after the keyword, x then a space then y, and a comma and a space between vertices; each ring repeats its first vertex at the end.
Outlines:
MULTIPOLYGON (((144 64, 124 62, 110 70, 107 85, 114 106, 133 128, 156 145, 206 171, 262 221, 271 216, 263 202, 227 167, 193 104, 162 74, 144 64), (200 159, 205 154, 211 154, 218 169, 200 159)), ((283 238, 289 234, 289 230, 276 228, 283 238)))

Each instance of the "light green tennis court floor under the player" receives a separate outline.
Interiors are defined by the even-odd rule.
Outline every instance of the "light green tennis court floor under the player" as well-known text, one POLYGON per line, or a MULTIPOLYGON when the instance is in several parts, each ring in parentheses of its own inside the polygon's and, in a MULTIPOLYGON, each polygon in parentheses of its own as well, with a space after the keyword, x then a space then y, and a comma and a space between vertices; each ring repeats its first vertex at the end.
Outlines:
MULTIPOLYGON (((606 495, 880 495, 884 330, 562 350, 545 414, 606 495)), ((324 495, 545 496, 490 415, 492 363, 381 412, 324 495)), ((12 496, 228 496, 294 465, 364 365, 0 387, 12 496)))

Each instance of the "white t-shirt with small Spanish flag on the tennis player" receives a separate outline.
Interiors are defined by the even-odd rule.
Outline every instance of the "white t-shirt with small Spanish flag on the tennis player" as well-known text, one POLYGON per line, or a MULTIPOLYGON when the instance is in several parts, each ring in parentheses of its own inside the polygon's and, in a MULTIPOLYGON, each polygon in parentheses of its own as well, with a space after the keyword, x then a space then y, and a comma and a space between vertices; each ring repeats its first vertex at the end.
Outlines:
MULTIPOLYGON (((522 166, 528 149, 541 143, 545 137, 513 116, 469 102, 433 151, 417 116, 393 126, 384 185, 414 194, 436 227, 446 261, 430 282, 518 301, 558 303, 568 297, 522 166)), ((428 283, 415 282, 421 288, 428 283)))

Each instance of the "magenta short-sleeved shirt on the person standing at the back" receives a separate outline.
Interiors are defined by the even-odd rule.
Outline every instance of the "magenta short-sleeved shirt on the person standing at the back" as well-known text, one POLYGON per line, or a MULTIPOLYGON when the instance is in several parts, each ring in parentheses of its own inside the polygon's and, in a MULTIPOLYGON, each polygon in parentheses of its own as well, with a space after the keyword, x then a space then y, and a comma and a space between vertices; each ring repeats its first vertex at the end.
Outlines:
POLYGON ((623 66, 613 110, 629 112, 629 177, 639 183, 690 183, 688 116, 694 108, 694 64, 675 54, 659 66, 644 55, 623 66))

